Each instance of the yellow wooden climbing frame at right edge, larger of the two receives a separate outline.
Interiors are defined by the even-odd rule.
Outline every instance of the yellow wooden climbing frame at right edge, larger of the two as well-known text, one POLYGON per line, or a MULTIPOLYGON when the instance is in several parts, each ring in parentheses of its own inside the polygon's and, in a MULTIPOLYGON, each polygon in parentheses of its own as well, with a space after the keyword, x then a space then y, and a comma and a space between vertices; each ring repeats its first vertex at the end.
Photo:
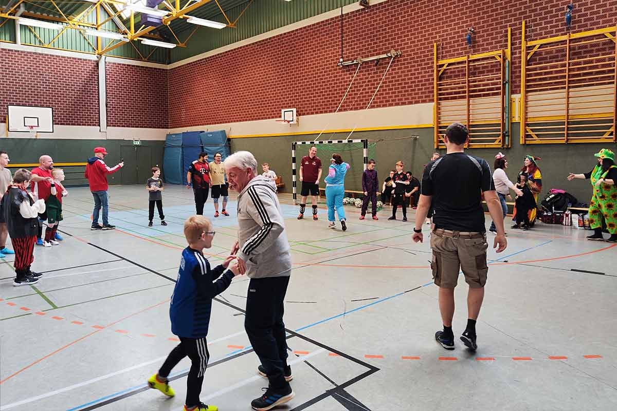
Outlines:
POLYGON ((617 27, 521 41, 521 144, 616 142, 617 27))

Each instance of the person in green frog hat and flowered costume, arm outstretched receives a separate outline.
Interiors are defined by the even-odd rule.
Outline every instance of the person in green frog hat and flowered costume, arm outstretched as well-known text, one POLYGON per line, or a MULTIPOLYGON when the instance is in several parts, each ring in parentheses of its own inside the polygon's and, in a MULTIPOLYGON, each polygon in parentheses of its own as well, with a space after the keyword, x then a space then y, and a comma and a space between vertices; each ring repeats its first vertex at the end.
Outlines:
POLYGON ((589 202, 589 226, 594 234, 587 240, 603 241, 602 218, 607 224, 607 230, 611 234, 607 242, 617 243, 617 166, 615 166, 615 153, 608 149, 602 149, 594 154, 598 158, 598 165, 592 171, 584 174, 570 173, 568 180, 590 179, 594 190, 589 202))

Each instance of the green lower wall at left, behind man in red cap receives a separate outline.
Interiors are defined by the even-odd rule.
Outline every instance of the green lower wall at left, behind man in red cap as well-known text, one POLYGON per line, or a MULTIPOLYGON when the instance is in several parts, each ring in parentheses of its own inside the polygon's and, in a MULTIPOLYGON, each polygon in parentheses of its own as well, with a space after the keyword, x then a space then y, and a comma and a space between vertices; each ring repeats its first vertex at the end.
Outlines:
MULTIPOLYGON (((152 166, 163 165, 164 141, 141 141, 141 146, 134 147, 131 140, 77 140, 77 139, 9 139, 0 140, 0 149, 9 154, 10 163, 38 163, 38 158, 47 154, 55 163, 85 163, 94 155, 94 147, 105 147, 106 163, 116 165, 120 158, 125 158, 125 166, 108 177, 109 184, 141 184, 152 175, 152 166)), ((11 167, 11 171, 15 168, 11 167)), ((83 178, 84 166, 62 167, 67 177, 67 187, 87 185, 83 178)), ((162 170, 162 173, 165 173, 162 170)))

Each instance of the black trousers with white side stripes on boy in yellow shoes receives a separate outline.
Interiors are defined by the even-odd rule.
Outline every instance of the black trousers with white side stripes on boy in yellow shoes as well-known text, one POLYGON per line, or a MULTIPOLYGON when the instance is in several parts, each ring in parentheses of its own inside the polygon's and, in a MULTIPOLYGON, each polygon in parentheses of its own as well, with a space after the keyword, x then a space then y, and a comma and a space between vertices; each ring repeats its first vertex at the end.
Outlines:
POLYGON ((191 369, 186 380, 186 402, 184 404, 190 408, 199 404, 199 394, 201 385, 204 382, 205 368, 208 366, 210 353, 208 343, 204 338, 184 338, 180 337, 180 344, 169 353, 167 359, 159 370, 159 376, 167 378, 172 368, 184 357, 191 359, 191 369))

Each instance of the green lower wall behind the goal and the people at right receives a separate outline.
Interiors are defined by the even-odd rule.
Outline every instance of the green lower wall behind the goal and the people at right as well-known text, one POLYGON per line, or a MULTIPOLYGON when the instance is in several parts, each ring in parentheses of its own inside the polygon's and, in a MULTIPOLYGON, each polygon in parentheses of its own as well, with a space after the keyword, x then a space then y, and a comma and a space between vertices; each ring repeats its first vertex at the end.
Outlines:
MULTIPOLYGON (((588 203, 591 197, 591 187, 589 181, 575 180, 566 181, 568 172, 586 173, 595 165, 594 153, 597 153, 606 145, 601 144, 547 144, 547 145, 526 145, 519 143, 518 123, 512 124, 513 147, 511 149, 473 149, 467 150, 468 153, 478 157, 486 158, 491 165, 494 162, 495 154, 499 151, 504 153, 510 167, 506 170, 508 177, 515 181, 518 170, 523 166, 523 157, 532 154, 541 157, 539 161, 542 170, 542 193, 540 200, 552 188, 564 189, 572 193, 579 201, 588 203)), ((346 135, 345 135, 346 136, 346 135)), ((340 136, 327 137, 336 139, 340 136)), ((354 132, 354 139, 366 138, 369 140, 381 140, 377 143, 376 158, 379 180, 383 181, 390 169, 394 168, 397 160, 405 162, 405 170, 411 170, 413 174, 420 178, 424 165, 435 151, 433 149, 433 128, 406 129, 406 130, 387 130, 387 131, 364 131, 354 132), (418 139, 404 138, 419 136, 418 139)), ((285 187, 283 192, 291 193, 291 142, 301 140, 313 140, 311 136, 286 136, 286 137, 255 137, 231 139, 231 149, 249 150, 254 153, 259 163, 268 162, 270 168, 276 174, 282 176, 285 187)), ((615 150, 614 144, 608 147, 615 150)), ((307 155, 309 146, 299 146, 296 153, 299 159, 307 155)), ((361 150, 358 150, 361 155, 361 150)), ((438 150, 442 154, 445 150, 438 150)), ((319 152, 317 153, 319 156, 319 152)), ((328 158, 320 157, 324 166, 329 165, 328 158)), ((345 160, 345 158, 344 158, 345 160)), ((362 167, 350 170, 349 177, 346 179, 345 187, 347 190, 360 190, 360 176, 362 167)), ((323 186, 323 182, 320 184, 323 186)))

